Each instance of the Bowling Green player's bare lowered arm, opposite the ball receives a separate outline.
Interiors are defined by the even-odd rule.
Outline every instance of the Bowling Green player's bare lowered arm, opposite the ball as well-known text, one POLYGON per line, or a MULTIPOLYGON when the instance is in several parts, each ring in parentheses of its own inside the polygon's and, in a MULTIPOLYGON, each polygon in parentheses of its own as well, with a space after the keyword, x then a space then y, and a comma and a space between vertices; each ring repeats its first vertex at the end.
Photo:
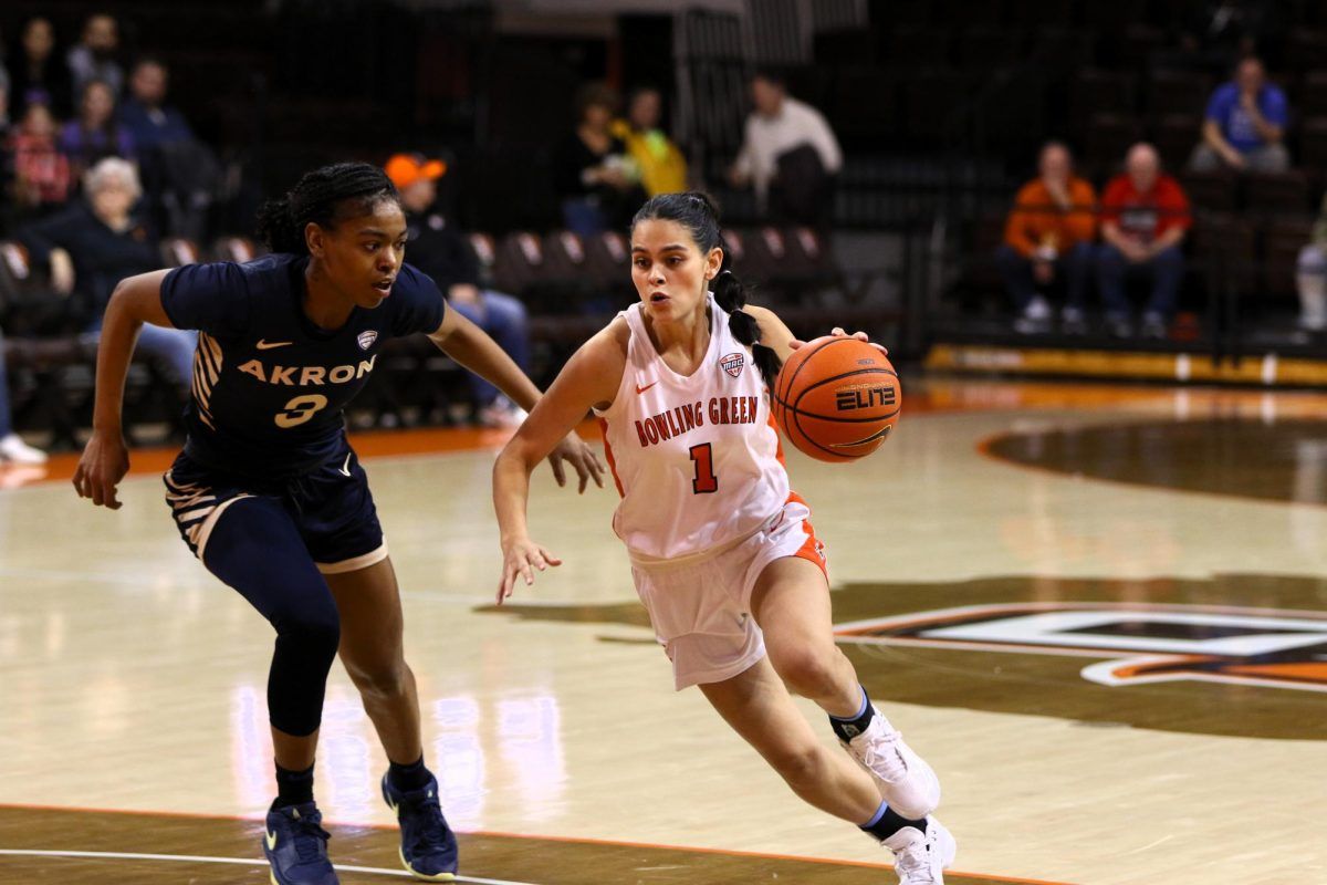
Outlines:
POLYGON ((498 604, 511 596, 516 579, 535 582, 535 572, 561 560, 529 539, 525 504, 529 502, 529 474, 553 447, 573 431, 592 406, 606 407, 622 382, 625 322, 617 321, 581 345, 548 393, 511 438, 494 463, 494 510, 502 537, 503 565, 498 582, 498 604))

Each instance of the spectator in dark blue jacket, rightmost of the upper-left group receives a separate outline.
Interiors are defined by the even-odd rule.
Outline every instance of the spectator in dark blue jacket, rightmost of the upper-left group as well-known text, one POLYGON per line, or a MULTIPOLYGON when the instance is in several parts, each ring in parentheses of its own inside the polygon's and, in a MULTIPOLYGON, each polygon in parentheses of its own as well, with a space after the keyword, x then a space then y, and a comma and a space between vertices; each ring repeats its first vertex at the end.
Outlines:
POLYGON ((139 58, 129 76, 119 122, 133 139, 149 202, 162 211, 161 226, 174 236, 202 240, 220 167, 184 115, 166 103, 169 84, 165 64, 139 58))

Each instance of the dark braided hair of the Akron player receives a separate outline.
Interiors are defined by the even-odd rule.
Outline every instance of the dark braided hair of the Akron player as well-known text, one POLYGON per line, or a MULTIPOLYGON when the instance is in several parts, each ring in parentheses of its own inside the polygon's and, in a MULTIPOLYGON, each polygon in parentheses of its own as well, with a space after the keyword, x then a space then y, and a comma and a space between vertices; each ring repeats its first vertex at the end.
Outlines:
POLYGON ((273 252, 308 255, 304 228, 322 228, 373 211, 381 200, 401 203, 387 174, 369 163, 332 163, 308 172, 284 196, 257 212, 257 234, 273 252))

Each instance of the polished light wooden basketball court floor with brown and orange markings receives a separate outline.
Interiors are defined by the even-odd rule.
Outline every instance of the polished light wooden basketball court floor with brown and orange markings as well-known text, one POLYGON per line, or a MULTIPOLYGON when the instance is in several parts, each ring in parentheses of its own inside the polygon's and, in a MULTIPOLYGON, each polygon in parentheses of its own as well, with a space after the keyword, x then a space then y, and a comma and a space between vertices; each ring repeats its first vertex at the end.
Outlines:
MULTIPOLYGON (((943 782, 946 881, 1327 882, 1327 397, 904 390, 878 454, 790 472, 843 647, 943 782)), ((565 564, 491 605, 502 439, 354 438, 462 881, 894 881, 671 690, 610 487, 545 470, 532 531, 565 564)), ((5 885, 267 881, 272 637, 180 544, 171 454, 135 456, 119 512, 74 496, 72 456, 0 470, 5 885)), ((342 882, 405 876, 384 767, 337 669, 317 793, 342 882)))

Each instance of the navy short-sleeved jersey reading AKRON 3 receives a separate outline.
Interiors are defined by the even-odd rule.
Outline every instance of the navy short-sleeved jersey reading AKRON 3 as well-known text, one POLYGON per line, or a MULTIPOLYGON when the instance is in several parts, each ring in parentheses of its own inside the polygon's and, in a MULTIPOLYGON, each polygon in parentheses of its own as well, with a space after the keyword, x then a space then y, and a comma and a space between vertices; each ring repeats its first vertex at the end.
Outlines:
POLYGON ((389 337, 433 333, 442 293, 409 264, 377 308, 320 329, 305 316, 308 256, 190 264, 162 281, 162 306, 198 329, 184 451, 253 478, 307 472, 342 451, 345 405, 364 387, 389 337))

